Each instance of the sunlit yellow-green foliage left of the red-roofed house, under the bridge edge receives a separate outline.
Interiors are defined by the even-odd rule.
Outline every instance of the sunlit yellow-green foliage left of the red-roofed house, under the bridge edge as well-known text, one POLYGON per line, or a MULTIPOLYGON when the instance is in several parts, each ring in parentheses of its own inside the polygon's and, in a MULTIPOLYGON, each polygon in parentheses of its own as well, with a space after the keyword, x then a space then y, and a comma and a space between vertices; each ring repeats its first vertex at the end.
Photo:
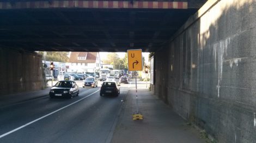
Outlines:
MULTIPOLYGON (((42 55, 42 60, 44 60, 44 51, 39 51, 38 54, 42 55)), ((69 52, 66 51, 46 51, 46 61, 54 61, 54 62, 68 62, 69 52)))

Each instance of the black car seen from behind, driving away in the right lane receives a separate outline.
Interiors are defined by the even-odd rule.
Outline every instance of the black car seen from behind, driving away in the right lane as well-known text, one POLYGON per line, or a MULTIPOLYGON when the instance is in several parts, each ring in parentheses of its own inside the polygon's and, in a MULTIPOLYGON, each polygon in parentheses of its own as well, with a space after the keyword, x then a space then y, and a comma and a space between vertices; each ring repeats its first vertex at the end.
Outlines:
POLYGON ((100 96, 102 95, 114 95, 120 94, 120 85, 115 81, 104 81, 100 88, 100 96))

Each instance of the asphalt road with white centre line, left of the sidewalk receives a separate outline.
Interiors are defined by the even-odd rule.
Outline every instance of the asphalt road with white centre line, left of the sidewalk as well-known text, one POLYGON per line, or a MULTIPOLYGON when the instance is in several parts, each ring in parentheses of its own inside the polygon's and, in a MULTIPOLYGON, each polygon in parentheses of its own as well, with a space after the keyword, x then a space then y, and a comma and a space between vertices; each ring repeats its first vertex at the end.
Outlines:
POLYGON ((0 142, 110 142, 128 86, 118 97, 80 86, 73 99, 45 95, 2 107, 0 142))

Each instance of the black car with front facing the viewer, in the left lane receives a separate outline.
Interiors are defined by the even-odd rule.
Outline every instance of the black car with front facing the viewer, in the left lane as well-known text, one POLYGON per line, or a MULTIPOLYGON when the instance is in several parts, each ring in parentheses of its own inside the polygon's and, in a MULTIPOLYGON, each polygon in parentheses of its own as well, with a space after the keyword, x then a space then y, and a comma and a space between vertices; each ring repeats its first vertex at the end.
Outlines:
POLYGON ((79 88, 75 81, 59 81, 50 90, 50 98, 78 96, 79 88))

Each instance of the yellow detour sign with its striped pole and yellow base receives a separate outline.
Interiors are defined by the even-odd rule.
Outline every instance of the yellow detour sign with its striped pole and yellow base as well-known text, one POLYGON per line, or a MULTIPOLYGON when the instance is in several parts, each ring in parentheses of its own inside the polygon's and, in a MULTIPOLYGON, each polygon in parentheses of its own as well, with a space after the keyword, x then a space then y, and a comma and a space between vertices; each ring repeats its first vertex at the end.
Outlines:
MULTIPOLYGON (((137 71, 142 70, 142 49, 127 50, 128 54, 128 70, 137 71)), ((138 109, 138 94, 137 94, 137 72, 135 73, 135 85, 136 85, 136 108, 137 111, 133 113, 133 120, 142 120, 143 115, 138 109)))

